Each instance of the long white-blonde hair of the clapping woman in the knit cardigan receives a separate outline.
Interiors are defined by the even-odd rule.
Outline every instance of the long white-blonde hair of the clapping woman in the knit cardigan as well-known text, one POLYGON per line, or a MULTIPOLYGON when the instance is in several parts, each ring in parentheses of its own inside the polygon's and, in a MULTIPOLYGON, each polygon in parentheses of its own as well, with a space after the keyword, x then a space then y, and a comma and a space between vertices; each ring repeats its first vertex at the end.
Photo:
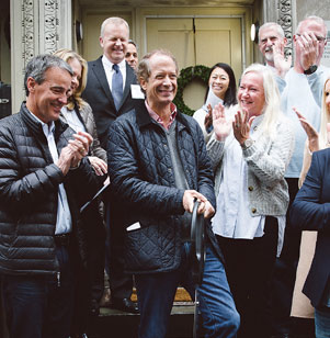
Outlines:
POLYGON ((281 112, 280 92, 272 70, 261 64, 252 64, 249 66, 243 71, 242 77, 248 72, 257 72, 262 76, 264 91, 264 117, 260 124, 259 132, 260 134, 266 135, 273 139, 276 137, 277 123, 283 117, 281 112))

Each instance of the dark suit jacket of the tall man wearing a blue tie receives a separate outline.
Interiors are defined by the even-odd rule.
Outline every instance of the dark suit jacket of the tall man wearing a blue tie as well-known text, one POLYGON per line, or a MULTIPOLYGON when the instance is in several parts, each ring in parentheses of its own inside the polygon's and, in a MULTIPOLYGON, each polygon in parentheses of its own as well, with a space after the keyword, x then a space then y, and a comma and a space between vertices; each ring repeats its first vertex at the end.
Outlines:
POLYGON ((136 84, 136 76, 132 67, 126 63, 126 82, 123 100, 117 111, 106 80, 102 64, 102 56, 88 63, 87 87, 82 98, 91 105, 94 114, 101 146, 106 149, 107 131, 111 123, 117 116, 134 108, 137 100, 132 99, 130 84, 136 84))

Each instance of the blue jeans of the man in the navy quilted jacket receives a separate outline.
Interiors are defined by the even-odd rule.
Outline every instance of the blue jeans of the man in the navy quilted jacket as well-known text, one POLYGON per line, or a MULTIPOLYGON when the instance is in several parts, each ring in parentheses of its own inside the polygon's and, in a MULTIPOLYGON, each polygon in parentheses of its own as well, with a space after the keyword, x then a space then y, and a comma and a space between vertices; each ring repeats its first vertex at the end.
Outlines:
MULTIPOLYGON (((195 288, 190 271, 190 246, 185 244, 178 270, 163 273, 136 275, 140 324, 138 338, 163 338, 179 284, 184 286, 194 300, 195 288)), ((239 314, 220 260, 210 247, 206 248, 203 283, 198 288, 200 313, 203 318, 205 338, 237 336, 239 314)))

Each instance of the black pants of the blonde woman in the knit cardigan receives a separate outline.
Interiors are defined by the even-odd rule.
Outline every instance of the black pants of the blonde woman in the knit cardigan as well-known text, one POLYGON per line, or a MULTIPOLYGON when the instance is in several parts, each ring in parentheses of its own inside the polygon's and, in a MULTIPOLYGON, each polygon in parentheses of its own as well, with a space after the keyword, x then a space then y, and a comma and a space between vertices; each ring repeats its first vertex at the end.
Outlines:
POLYGON ((238 337, 269 336, 268 295, 277 249, 277 219, 266 217, 264 235, 254 239, 217 236, 236 307, 241 316, 238 337))

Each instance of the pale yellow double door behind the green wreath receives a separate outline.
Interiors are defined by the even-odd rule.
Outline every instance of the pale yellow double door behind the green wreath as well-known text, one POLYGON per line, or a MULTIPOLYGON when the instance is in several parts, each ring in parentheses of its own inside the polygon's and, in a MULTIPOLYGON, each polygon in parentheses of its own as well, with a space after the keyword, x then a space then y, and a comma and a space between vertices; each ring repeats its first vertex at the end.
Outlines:
MULTIPOLYGON (((237 80, 242 72, 241 20, 239 18, 147 18, 147 50, 166 48, 179 68, 216 63, 229 64, 237 80)), ((198 81, 184 90, 184 102, 194 110, 203 105, 205 87, 198 81)))

